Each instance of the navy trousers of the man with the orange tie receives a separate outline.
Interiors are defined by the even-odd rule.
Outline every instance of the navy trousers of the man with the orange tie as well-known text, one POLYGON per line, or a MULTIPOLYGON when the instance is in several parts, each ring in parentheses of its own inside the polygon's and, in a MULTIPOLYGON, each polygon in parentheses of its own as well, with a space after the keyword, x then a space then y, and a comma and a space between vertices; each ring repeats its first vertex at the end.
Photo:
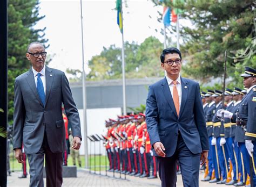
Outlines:
POLYGON ((174 187, 177 182, 177 160, 180 163, 183 186, 198 187, 200 153, 193 154, 178 135, 175 153, 171 157, 157 157, 162 187, 174 187))

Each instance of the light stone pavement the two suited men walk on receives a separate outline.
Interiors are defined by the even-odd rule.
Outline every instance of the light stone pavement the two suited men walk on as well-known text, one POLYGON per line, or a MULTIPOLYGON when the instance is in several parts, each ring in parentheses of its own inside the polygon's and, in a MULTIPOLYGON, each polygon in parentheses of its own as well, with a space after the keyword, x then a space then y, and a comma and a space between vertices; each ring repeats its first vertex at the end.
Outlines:
MULTIPOLYGON (((12 172, 11 176, 8 177, 8 184, 9 187, 22 187, 22 186, 29 186, 29 178, 21 178, 19 179, 18 176, 21 172, 12 172)), ((105 175, 105 171, 102 171, 102 175, 105 175)), ((138 178, 133 176, 127 176, 127 179, 120 179, 120 178, 113 178, 113 172, 107 172, 108 176, 100 176, 96 174, 90 174, 89 171, 80 169, 77 172, 77 178, 63 178, 63 185, 62 186, 160 186, 159 179, 146 179, 146 178, 138 178)), ((116 177, 119 177, 119 174, 115 173, 116 177)), ((203 173, 200 173, 199 178, 204 176, 203 173)), ((124 175, 122 175, 124 178, 124 175)), ((45 179, 44 179, 45 184, 45 179)), ((46 185, 45 185, 46 186, 46 185)), ((183 186, 181 175, 177 177, 177 187, 183 186)), ((208 182, 200 182, 199 186, 202 187, 213 187, 216 184, 210 184, 208 182)), ((220 185, 225 186, 225 185, 220 185)))

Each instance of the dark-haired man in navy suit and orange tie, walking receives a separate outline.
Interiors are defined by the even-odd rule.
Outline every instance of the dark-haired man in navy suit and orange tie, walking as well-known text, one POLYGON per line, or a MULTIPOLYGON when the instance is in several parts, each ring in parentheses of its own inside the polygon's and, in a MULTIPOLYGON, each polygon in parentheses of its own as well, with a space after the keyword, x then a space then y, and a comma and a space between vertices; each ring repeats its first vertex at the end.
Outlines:
POLYGON ((200 162, 206 162, 209 150, 199 84, 180 76, 179 49, 164 49, 160 60, 166 77, 149 87, 146 123, 161 186, 176 186, 177 160, 183 185, 198 186, 200 162))

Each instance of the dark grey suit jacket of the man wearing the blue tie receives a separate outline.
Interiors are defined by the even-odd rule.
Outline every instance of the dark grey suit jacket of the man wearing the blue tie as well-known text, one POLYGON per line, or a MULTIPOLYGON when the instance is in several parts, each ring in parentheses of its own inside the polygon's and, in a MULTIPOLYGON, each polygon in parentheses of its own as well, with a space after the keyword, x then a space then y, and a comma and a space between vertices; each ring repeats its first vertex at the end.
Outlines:
POLYGON ((32 68, 15 80, 13 144, 26 154, 35 154, 42 146, 46 133, 51 152, 66 149, 62 103, 72 125, 73 136, 82 139, 80 119, 72 98, 68 79, 57 69, 45 67, 45 106, 39 98, 32 68))

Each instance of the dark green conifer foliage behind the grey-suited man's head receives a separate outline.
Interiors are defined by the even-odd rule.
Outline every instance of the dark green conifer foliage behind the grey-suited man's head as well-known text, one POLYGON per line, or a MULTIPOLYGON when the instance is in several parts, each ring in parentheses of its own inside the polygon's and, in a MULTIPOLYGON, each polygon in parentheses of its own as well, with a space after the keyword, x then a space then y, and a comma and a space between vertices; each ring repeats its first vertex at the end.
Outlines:
MULTIPOLYGON (((26 59, 26 47, 32 41, 45 44, 43 29, 34 29, 38 16, 38 0, 9 0, 8 2, 8 121, 12 124, 14 114, 15 78, 30 68, 26 59)), ((48 46, 46 46, 47 48, 48 46)))

